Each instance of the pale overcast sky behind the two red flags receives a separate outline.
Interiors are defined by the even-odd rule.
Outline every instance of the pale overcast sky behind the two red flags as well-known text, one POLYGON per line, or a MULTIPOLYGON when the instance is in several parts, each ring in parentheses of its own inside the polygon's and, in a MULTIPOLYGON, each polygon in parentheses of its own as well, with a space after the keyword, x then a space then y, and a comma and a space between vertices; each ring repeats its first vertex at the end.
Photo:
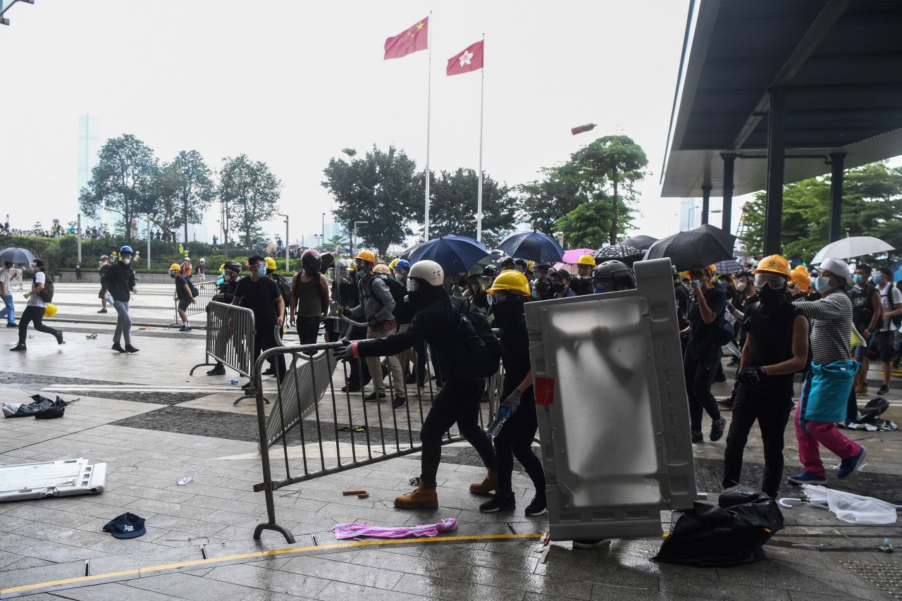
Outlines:
POLYGON ((425 163, 428 53, 382 60, 382 44, 431 10, 433 170, 477 166, 479 72, 448 78, 445 65, 484 32, 485 171, 514 185, 598 135, 630 135, 649 156, 637 232, 667 236, 679 201, 659 198, 658 170, 687 5, 18 4, 0 31, 2 213, 14 227, 75 218, 78 116, 89 113, 105 138, 135 134, 163 161, 196 149, 214 168, 239 153, 268 162, 284 184, 291 238, 305 219, 318 231, 332 207, 322 170, 343 148, 393 143, 425 163), (588 122, 594 132, 570 135, 588 122))

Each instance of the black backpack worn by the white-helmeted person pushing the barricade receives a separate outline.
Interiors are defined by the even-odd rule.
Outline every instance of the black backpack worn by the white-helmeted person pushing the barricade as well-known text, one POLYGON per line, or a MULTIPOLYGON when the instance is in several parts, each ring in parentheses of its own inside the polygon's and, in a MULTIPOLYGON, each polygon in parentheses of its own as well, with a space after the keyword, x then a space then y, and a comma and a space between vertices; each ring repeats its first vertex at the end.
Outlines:
POLYGON ((470 313, 459 299, 451 301, 456 318, 456 339, 451 356, 453 377, 467 382, 491 377, 498 371, 502 347, 489 322, 480 313, 470 313))

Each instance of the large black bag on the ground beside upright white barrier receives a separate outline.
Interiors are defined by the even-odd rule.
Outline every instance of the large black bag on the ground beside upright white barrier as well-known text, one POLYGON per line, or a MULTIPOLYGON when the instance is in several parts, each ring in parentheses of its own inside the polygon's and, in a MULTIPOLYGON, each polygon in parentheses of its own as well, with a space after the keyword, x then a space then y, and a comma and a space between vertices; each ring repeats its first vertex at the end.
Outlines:
POLYGON ((783 528, 777 502, 750 486, 738 485, 723 491, 720 503, 726 506, 695 503, 684 512, 652 559, 697 568, 764 559, 762 546, 783 528))

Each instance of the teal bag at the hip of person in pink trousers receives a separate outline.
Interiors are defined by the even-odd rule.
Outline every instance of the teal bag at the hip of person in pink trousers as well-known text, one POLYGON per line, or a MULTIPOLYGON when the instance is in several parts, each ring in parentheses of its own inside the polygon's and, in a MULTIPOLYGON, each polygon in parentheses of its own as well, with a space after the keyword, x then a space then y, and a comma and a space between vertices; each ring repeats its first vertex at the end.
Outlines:
POLYGON ((805 421, 845 421, 851 387, 860 368, 861 364, 852 359, 811 365, 802 390, 803 428, 805 421))

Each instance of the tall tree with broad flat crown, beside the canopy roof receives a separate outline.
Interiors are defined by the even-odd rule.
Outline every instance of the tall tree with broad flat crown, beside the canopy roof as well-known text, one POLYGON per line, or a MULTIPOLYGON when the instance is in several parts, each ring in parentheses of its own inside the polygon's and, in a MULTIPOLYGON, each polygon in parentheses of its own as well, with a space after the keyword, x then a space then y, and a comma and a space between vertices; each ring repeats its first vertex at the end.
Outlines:
POLYGON ((611 202, 610 243, 617 243, 618 219, 621 207, 620 186, 629 191, 626 199, 633 200, 632 184, 645 178, 642 171, 649 164, 642 147, 627 135, 605 135, 570 156, 570 166, 577 172, 580 190, 593 200, 608 196, 611 202))

